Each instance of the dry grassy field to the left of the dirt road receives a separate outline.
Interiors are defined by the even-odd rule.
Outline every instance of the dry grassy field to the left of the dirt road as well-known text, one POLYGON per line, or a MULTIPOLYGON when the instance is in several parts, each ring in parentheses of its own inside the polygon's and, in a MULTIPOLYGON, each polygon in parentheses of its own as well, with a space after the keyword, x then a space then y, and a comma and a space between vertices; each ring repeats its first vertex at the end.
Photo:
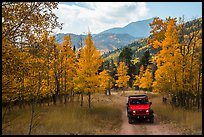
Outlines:
MULTIPOLYGON (((116 105, 118 98, 95 94, 92 99, 92 108, 88 109, 87 98, 84 98, 84 107, 80 103, 67 105, 37 107, 39 112, 35 119, 38 125, 33 129, 35 135, 70 135, 70 134, 115 134, 120 128, 121 105, 116 105)), ((121 102, 122 103, 122 102, 121 102)), ((3 111, 2 111, 3 112, 3 111)), ((12 119, 10 125, 2 131, 3 135, 26 135, 29 131, 31 109, 14 110, 7 115, 12 119)), ((8 122, 3 121, 5 127, 8 122)))

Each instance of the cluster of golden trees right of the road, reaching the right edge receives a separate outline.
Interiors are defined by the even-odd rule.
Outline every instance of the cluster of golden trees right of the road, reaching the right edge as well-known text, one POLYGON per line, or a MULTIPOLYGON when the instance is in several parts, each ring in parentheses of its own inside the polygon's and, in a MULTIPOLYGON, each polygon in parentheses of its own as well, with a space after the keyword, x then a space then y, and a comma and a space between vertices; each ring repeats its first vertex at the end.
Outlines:
MULTIPOLYGON (((135 76, 135 86, 153 89, 153 92, 173 94, 177 105, 190 107, 195 99, 198 104, 202 95, 202 18, 191 22, 188 27, 180 18, 162 20, 155 18, 150 24, 152 35, 149 44, 160 49, 154 57, 156 72, 150 66, 135 76)), ((195 104, 195 103, 194 103, 195 104)))

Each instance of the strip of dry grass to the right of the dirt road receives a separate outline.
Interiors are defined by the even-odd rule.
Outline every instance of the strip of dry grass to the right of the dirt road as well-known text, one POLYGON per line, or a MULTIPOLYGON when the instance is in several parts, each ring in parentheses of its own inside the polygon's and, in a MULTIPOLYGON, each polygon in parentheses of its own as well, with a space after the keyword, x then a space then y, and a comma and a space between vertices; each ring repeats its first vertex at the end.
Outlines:
POLYGON ((162 97, 152 99, 154 112, 162 119, 170 121, 181 128, 183 134, 201 135, 202 134, 202 111, 185 110, 164 104, 162 97))

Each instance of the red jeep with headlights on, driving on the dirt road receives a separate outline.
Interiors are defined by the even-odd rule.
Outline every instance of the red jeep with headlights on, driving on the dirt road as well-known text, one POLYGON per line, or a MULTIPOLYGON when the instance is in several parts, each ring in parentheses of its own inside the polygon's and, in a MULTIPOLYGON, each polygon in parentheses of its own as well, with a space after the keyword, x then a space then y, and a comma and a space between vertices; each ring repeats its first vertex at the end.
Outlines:
POLYGON ((149 119, 154 123, 154 112, 151 109, 147 95, 130 95, 127 103, 128 122, 131 124, 136 119, 149 119))

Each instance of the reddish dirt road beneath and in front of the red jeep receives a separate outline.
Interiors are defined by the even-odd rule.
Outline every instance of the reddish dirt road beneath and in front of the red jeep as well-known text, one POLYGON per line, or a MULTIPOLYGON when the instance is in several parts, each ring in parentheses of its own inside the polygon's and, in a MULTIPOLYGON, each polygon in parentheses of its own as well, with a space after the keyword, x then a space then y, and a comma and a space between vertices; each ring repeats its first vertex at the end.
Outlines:
MULTIPOLYGON (((124 99, 124 102, 126 98, 124 99)), ((149 121, 136 121, 128 123, 127 110, 124 108, 122 114, 122 125, 118 135, 181 135, 181 131, 172 123, 165 122, 155 114, 154 123, 149 121)))

